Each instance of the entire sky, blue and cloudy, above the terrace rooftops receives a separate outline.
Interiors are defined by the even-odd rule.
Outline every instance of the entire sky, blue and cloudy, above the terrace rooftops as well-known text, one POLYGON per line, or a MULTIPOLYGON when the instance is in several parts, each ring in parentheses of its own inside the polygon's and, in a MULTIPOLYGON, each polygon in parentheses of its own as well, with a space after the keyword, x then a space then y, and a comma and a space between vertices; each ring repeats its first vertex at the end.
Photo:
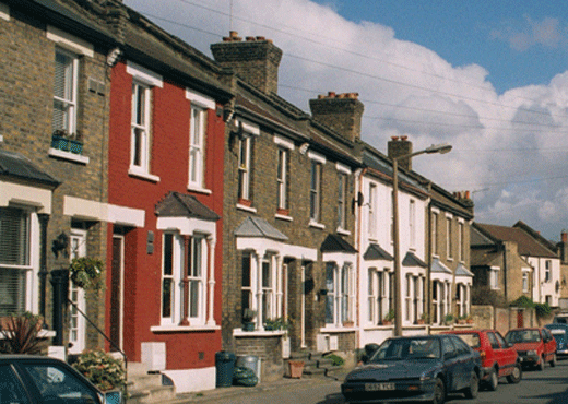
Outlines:
POLYGON ((568 2, 561 0, 123 0, 206 56, 230 29, 284 55, 279 95, 309 112, 359 94, 362 138, 393 135, 413 169, 466 191, 475 222, 568 230, 568 2))

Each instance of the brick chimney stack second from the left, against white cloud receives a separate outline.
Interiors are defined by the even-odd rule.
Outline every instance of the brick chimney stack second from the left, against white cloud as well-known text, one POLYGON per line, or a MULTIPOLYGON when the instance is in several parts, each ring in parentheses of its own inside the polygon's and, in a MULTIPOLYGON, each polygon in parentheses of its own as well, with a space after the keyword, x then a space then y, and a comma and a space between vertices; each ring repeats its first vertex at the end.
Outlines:
POLYGON ((341 133, 350 141, 360 138, 360 120, 365 109, 358 93, 319 95, 310 99, 309 107, 315 120, 341 133))

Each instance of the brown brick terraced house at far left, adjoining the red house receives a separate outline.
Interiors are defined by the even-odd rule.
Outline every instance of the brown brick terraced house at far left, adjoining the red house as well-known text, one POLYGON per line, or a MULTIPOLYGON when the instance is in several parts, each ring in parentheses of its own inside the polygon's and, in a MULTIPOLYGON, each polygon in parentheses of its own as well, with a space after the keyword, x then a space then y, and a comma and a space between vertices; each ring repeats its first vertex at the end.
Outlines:
POLYGON ((51 286, 64 290, 71 259, 106 259, 116 40, 75 2, 33 0, 0 2, 0 316, 39 313, 80 353, 104 341, 78 311, 104 328, 103 295, 71 284, 63 319, 51 286))

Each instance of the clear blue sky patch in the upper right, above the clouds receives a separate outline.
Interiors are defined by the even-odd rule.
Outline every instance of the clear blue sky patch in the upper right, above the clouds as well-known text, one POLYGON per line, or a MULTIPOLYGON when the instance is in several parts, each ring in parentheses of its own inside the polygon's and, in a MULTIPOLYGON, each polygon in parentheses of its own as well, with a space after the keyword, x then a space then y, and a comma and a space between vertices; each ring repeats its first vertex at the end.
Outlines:
POLYGON ((350 21, 372 21, 390 26, 398 39, 431 49, 453 66, 481 64, 487 69, 487 79, 499 93, 530 84, 547 84, 556 73, 568 68, 566 1, 316 2, 330 5, 350 21), (537 32, 542 32, 541 44, 537 32), (510 41, 514 38, 526 48, 513 48, 510 41))

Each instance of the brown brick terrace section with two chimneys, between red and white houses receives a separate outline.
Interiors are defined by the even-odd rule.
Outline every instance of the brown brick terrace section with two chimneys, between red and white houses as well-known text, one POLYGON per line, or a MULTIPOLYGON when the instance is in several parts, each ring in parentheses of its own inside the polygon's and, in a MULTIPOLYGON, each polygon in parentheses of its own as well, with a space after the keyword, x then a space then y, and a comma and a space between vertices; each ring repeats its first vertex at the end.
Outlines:
POLYGON ((225 146, 223 343, 282 377, 283 349, 355 348, 352 209, 363 104, 310 100, 312 116, 277 96, 282 50, 232 33, 211 46, 236 73, 225 146), (252 331, 244 331, 252 310, 252 331), (273 330, 273 323, 291 323, 273 330))

